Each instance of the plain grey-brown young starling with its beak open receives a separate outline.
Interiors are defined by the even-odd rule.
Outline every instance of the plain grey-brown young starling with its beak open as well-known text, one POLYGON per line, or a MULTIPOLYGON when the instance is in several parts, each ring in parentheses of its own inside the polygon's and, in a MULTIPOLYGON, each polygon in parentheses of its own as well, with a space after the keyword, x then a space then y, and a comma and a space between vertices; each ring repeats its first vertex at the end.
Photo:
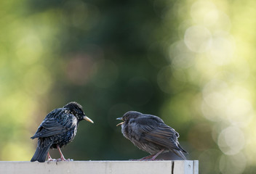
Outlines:
POLYGON ((177 140, 179 133, 166 125, 160 117, 129 111, 116 120, 123 120, 116 126, 121 125, 121 133, 125 138, 139 149, 151 154, 139 160, 155 160, 159 154, 165 152, 173 152, 181 159, 186 159, 183 153, 188 152, 177 140))

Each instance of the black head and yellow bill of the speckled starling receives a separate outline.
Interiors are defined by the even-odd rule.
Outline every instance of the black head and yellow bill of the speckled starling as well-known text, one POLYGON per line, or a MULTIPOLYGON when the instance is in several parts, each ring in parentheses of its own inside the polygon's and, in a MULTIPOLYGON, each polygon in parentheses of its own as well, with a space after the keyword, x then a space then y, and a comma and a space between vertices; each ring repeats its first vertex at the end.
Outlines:
POLYGON ((87 120, 90 123, 93 123, 93 121, 91 119, 89 119, 89 117, 87 117, 84 114, 84 111, 83 111, 81 105, 76 103, 75 101, 72 101, 72 102, 66 104, 64 106, 64 108, 67 108, 73 115, 75 115, 77 117, 77 120, 79 120, 79 121, 87 120))

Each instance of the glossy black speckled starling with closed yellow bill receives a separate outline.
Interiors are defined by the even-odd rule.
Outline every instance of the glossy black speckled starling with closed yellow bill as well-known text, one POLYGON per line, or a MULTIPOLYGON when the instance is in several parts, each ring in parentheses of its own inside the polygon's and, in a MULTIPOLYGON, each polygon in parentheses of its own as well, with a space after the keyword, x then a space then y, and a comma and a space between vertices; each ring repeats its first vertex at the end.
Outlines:
POLYGON ((31 162, 53 161, 49 155, 49 149, 58 149, 60 159, 57 161, 69 161, 65 159, 60 148, 73 141, 76 136, 78 124, 81 120, 87 120, 93 123, 89 117, 84 114, 80 104, 71 101, 64 107, 57 108, 49 112, 39 125, 36 133, 31 138, 38 138, 36 152, 33 154, 31 162))

